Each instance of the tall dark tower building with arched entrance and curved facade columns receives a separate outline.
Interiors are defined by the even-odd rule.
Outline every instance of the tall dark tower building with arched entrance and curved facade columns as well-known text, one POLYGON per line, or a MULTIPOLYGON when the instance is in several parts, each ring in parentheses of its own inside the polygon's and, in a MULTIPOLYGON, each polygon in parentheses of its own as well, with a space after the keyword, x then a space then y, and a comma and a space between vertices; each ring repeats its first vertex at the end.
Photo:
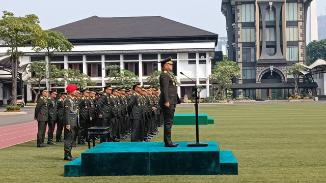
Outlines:
MULTIPOLYGON (((306 19, 311 2, 222 0, 229 59, 242 73, 231 86, 234 98, 285 99, 293 92, 294 79, 286 68, 306 61, 306 19)), ((315 87, 303 80, 300 88, 315 87)))

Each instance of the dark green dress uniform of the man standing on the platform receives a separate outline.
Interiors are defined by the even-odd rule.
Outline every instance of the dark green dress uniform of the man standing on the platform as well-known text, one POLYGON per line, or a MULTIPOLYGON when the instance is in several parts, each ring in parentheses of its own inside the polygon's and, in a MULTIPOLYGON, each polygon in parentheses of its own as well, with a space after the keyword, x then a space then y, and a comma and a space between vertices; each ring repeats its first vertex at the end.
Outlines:
POLYGON ((174 119, 175 105, 180 104, 176 82, 168 71, 162 71, 159 76, 159 85, 161 88, 159 105, 163 109, 164 114, 164 142, 172 144, 171 129, 174 119), (165 103, 169 102, 170 107, 167 108, 165 103))

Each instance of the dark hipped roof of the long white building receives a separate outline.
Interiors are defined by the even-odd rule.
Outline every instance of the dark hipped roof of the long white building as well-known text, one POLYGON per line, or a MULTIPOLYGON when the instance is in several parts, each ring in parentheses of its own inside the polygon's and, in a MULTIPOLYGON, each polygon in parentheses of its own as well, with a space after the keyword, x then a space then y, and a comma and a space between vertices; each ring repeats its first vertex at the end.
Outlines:
POLYGON ((122 39, 218 35, 160 16, 101 18, 92 16, 51 28, 75 39, 122 39))

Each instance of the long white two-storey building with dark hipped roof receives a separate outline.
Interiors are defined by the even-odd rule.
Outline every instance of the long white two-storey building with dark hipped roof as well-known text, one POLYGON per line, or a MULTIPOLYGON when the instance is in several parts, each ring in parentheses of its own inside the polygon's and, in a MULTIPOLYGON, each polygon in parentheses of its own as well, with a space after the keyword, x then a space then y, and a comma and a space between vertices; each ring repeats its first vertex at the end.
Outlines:
MULTIPOLYGON (((76 69, 88 74, 97 87, 107 85, 105 66, 119 65, 139 77, 147 85, 147 77, 160 70, 158 60, 172 56, 173 72, 181 82, 178 94, 192 98, 196 81, 205 89, 201 97, 209 96, 211 58, 218 44, 218 35, 160 16, 101 18, 92 16, 55 27, 73 44, 71 52, 55 52, 51 64, 58 69, 76 69)), ((5 55, 7 47, 0 47, 5 55)), ((35 53, 30 46, 20 48, 25 56, 21 64, 48 60, 44 52, 35 53)), ((31 76, 31 73, 29 73, 31 76)), ((26 78, 25 76, 24 78, 26 78)), ((42 83, 45 86, 45 81, 42 83)), ((53 87, 63 91, 65 86, 53 87)), ((35 98, 30 86, 25 87, 26 100, 35 98)))

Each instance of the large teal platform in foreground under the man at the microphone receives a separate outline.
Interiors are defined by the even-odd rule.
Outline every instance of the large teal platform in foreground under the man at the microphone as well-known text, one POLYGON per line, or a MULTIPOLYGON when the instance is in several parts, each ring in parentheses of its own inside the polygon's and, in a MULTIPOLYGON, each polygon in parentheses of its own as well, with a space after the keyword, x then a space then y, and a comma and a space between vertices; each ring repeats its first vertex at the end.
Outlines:
POLYGON ((104 142, 65 165, 65 176, 238 174, 231 151, 207 147, 164 147, 164 142, 104 142))

